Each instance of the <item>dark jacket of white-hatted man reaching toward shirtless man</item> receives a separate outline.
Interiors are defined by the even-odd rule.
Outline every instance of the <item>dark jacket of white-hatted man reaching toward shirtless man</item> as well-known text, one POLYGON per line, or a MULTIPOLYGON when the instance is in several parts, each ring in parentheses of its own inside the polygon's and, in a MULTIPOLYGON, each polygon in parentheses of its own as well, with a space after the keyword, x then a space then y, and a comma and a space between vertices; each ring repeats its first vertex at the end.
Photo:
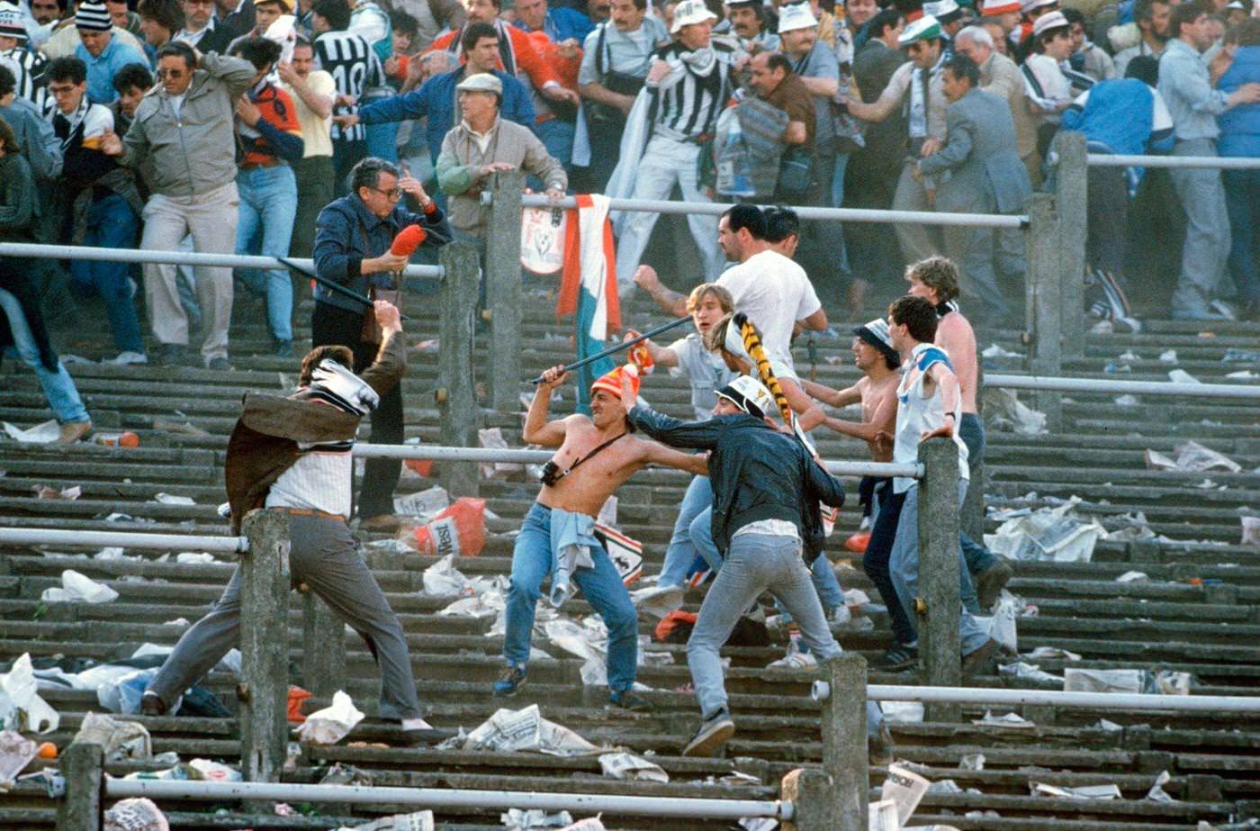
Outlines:
POLYGON ((627 420, 650 439, 672 448, 711 450, 713 542, 726 551, 736 531, 759 520, 796 526, 813 562, 823 551, 823 517, 818 503, 844 504, 844 485, 814 462, 804 443, 750 415, 679 421, 648 407, 634 407, 627 420))

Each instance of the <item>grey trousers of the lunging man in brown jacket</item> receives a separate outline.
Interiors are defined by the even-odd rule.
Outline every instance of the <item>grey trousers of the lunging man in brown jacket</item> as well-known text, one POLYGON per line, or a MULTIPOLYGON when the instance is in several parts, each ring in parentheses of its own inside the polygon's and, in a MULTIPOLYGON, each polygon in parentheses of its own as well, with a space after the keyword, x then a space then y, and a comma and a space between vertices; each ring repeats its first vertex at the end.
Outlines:
MULTIPOLYGON (((349 527, 323 517, 291 517, 289 528, 292 536, 289 569, 294 585, 309 585, 349 623, 381 667, 381 718, 420 718, 416 678, 402 624, 359 556, 349 527)), ((194 623, 175 644, 149 691, 170 705, 237 646, 239 632, 241 569, 237 567, 210 613, 194 623)))

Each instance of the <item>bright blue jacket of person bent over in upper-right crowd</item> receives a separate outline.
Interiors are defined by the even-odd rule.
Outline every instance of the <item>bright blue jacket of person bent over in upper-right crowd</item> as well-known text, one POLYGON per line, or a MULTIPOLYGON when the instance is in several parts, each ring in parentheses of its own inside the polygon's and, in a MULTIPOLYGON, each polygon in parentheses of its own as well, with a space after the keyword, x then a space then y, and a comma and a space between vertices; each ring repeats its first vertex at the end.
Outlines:
POLYGON ((1172 130, 1154 124, 1155 96, 1142 81, 1100 81, 1081 98, 1063 111, 1065 130, 1080 130, 1090 144, 1105 145, 1116 155, 1172 149, 1172 130))

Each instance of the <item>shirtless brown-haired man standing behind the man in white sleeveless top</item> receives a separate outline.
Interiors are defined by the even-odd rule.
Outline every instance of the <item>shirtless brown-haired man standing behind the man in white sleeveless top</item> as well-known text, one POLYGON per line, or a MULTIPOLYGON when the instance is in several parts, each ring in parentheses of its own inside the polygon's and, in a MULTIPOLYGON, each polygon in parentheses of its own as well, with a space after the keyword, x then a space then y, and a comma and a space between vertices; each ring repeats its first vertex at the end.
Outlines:
MULTIPOLYGON (((906 269, 906 281, 910 284, 907 294, 931 303, 940 317, 934 343, 949 354, 954 373, 958 376, 963 396, 963 419, 958 424, 958 435, 966 445, 968 469, 974 485, 973 499, 983 499, 979 468, 984 460, 984 421, 980 420, 975 406, 979 361, 975 354, 975 332, 954 300, 959 294, 958 267, 948 257, 927 257, 906 269)), ((963 603, 973 613, 979 614, 982 609, 994 604, 1013 571, 1011 565, 976 545, 965 533, 963 556, 975 584, 975 591, 965 594, 963 603)))

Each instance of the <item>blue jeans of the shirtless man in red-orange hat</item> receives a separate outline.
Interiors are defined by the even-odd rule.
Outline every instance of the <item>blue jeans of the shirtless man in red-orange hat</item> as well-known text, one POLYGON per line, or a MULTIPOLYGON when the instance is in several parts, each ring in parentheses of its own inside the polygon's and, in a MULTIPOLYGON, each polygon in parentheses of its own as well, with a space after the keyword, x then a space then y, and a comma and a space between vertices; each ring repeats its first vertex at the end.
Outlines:
MULTIPOLYGON (((621 583, 609 552, 591 551, 593 569, 573 571, 573 583, 582 590, 609 629, 609 690, 624 692, 634 686, 639 668, 639 620, 630 593, 621 583)), ((551 575, 551 508, 537 502, 525 514, 512 551, 512 581, 508 589, 507 629, 503 657, 514 667, 529 663, 529 636, 534 628, 534 609, 542 596, 543 580, 551 575)))

